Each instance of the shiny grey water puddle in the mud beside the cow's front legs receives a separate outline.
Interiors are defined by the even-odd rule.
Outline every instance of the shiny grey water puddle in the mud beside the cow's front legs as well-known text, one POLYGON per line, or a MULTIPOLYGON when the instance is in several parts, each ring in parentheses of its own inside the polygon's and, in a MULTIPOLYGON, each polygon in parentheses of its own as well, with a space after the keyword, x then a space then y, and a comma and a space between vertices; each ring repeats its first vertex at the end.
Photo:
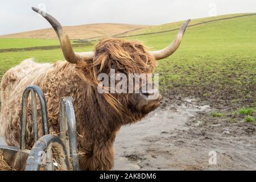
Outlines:
MULTIPOLYGON (((193 100, 185 100, 185 103, 180 106, 166 106, 164 109, 156 109, 148 114, 142 121, 129 126, 123 126, 118 132, 114 143, 115 150, 115 166, 114 170, 138 170, 141 169, 141 163, 147 161, 153 162, 154 155, 149 158, 147 155, 151 153, 151 142, 158 140, 159 137, 177 129, 186 130, 184 125, 189 118, 193 117, 198 111, 210 110, 209 105, 197 106, 193 105, 193 100)), ((161 145, 161 143, 158 143, 161 145)), ((165 146, 166 144, 163 144, 165 146)), ((161 147, 161 146, 155 146, 161 147)), ((164 150, 166 155, 168 149, 164 150)), ((156 158, 156 157, 155 157, 156 158)), ((163 158, 163 160, 166 160, 163 158)), ((145 163, 145 162, 144 162, 145 163)), ((159 169, 162 160, 154 160, 155 168, 143 169, 159 169), (157 164, 159 163, 159 164, 157 164), (159 167, 158 167, 159 166, 159 167)), ((147 166, 145 163, 144 166, 147 166)))

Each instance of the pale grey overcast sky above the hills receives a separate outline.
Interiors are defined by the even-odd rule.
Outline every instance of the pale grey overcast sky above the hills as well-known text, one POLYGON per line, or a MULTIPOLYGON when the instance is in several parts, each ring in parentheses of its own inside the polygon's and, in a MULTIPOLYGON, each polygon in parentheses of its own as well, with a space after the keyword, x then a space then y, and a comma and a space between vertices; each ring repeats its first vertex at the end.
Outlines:
POLYGON ((50 27, 31 6, 63 26, 89 23, 163 24, 205 16, 255 13, 255 0, 0 0, 0 35, 50 27))

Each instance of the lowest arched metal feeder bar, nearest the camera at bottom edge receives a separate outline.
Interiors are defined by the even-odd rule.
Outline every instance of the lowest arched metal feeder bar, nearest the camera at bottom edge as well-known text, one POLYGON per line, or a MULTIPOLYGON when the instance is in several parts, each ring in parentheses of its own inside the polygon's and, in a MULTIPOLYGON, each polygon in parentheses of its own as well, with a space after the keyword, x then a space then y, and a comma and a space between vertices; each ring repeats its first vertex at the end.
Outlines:
MULTIPOLYGON (((39 171, 40 166, 42 166, 42 157, 44 155, 39 155, 42 152, 48 151, 52 146, 60 149, 59 151, 63 156, 64 160, 58 160, 58 163, 64 170, 69 170, 69 161, 67 150, 59 137, 54 135, 44 135, 42 138, 36 141, 33 148, 31 149, 30 155, 27 159, 26 171, 39 171)), ((47 157, 47 155, 45 155, 47 157)))

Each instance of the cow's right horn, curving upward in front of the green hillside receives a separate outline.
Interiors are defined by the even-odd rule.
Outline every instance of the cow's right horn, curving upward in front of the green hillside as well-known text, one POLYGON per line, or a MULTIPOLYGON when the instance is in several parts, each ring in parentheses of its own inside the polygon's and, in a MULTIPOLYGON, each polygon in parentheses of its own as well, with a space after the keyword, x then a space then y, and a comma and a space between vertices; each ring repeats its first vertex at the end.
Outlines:
POLYGON ((177 48, 180 46, 182 37, 184 35, 184 32, 189 22, 190 22, 190 19, 188 19, 187 21, 185 21, 185 23, 183 23, 183 25, 180 27, 179 32, 177 32, 176 38, 172 41, 172 43, 169 46, 159 51, 150 51, 150 53, 155 56, 156 60, 164 59, 168 56, 171 56, 177 50, 177 48))

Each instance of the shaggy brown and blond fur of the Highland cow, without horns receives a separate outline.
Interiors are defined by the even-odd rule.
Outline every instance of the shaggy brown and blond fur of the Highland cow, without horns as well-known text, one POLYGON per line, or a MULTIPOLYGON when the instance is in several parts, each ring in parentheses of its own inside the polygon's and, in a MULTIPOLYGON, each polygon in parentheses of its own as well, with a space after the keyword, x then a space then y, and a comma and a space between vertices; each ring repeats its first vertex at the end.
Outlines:
MULTIPOLYGON (((135 108, 137 94, 99 94, 97 75, 109 73, 110 68, 122 73, 153 73, 155 66, 154 56, 143 44, 119 39, 105 39, 98 43, 92 63, 57 61, 38 64, 31 59, 24 60, 2 78, 2 137, 7 144, 19 146, 22 92, 28 85, 38 85, 46 96, 50 132, 59 132, 60 98, 73 97, 80 168, 109 170, 114 164, 115 134, 122 125, 139 121, 147 112, 135 108)), ((39 111, 38 105, 38 115, 39 111)), ((28 148, 34 144, 31 131, 31 110, 28 110, 28 148)), ((39 131, 42 136, 40 125, 39 131)))

